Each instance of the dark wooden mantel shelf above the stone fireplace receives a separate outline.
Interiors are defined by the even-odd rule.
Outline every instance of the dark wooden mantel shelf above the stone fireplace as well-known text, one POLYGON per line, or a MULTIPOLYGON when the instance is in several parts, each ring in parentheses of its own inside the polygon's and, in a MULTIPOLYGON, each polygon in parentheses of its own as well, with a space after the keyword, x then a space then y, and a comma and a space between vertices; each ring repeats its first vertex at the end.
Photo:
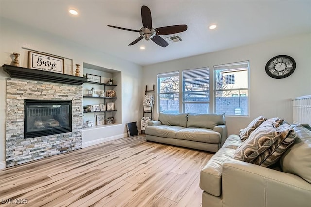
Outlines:
POLYGON ((37 69, 29 69, 6 64, 4 64, 2 67, 4 71, 10 75, 11 78, 22 78, 70 85, 82 85, 84 82, 87 81, 87 78, 79 76, 47 72, 37 69))

